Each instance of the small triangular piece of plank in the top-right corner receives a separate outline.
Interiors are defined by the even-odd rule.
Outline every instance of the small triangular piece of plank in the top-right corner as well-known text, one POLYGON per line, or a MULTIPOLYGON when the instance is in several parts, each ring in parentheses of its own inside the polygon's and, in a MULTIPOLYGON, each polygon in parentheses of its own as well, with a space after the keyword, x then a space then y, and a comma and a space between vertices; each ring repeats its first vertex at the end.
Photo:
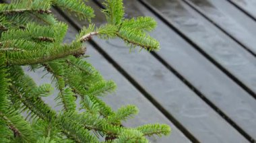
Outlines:
POLYGON ((256 1, 254 0, 228 0, 238 9, 244 11, 249 17, 256 20, 256 1))

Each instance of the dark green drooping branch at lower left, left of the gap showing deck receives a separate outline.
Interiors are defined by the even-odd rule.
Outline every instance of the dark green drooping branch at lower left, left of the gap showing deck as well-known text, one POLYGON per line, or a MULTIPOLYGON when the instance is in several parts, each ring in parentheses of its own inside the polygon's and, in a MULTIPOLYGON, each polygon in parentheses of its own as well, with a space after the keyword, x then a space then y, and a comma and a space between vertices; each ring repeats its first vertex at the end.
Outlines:
MULTIPOLYGON (((47 121, 51 121, 56 117, 56 112, 38 97, 38 93, 33 92, 33 89, 36 89, 36 84, 30 77, 24 75, 22 68, 19 66, 10 66, 8 71, 12 81, 10 86, 12 89, 11 95, 23 104, 20 105, 20 110, 29 111, 32 113, 32 117, 40 117, 47 121)), ((16 103, 21 104, 20 102, 16 103)))

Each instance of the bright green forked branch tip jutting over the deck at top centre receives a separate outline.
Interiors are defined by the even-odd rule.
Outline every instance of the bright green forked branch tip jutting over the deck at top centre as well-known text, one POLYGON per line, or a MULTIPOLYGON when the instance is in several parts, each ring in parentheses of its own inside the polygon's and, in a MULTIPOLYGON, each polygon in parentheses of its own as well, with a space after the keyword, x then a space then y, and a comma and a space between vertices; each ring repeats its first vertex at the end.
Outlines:
POLYGON ((106 15, 108 23, 117 26, 116 35, 123 39, 131 48, 140 46, 146 50, 159 50, 159 42, 148 36, 146 31, 156 27, 156 21, 150 17, 137 17, 136 19, 124 19, 124 7, 122 0, 106 0, 103 3, 106 9, 102 11, 106 15))

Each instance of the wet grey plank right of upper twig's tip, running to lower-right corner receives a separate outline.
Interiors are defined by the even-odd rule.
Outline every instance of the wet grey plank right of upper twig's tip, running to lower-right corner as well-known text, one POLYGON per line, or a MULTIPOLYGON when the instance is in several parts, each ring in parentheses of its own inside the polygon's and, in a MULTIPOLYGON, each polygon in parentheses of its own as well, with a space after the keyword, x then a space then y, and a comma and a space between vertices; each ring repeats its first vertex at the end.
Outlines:
POLYGON ((220 111, 228 115, 235 124, 256 138, 256 101, 253 97, 137 1, 125 1, 125 6, 133 7, 131 10, 126 9, 127 15, 148 15, 158 21, 158 28, 151 34, 160 41, 162 47, 157 54, 214 103, 220 111), (249 116, 241 115, 243 113, 249 116))

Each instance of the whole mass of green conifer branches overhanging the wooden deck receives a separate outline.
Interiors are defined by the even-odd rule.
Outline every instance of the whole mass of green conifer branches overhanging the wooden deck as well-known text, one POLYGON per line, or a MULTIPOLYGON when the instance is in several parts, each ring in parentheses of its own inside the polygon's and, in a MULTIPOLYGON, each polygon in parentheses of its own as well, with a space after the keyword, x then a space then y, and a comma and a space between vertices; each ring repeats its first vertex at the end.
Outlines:
POLYGON ((113 111, 100 99, 117 86, 84 60, 84 42, 99 36, 121 38, 131 47, 159 48, 146 33, 156 27, 154 19, 125 19, 121 0, 106 0, 104 5, 105 25, 96 27, 91 23, 73 42, 63 44, 67 24, 55 19, 51 7, 90 21, 93 9, 82 0, 16 0, 0 4, 1 142, 100 142, 99 138, 103 142, 148 142, 146 136, 170 133, 164 124, 123 127, 122 122, 137 114, 137 107, 127 105, 113 111), (33 71, 44 68, 52 75, 59 91, 55 101, 61 111, 42 100, 52 95, 53 87, 36 85, 22 70, 23 65, 33 71))

